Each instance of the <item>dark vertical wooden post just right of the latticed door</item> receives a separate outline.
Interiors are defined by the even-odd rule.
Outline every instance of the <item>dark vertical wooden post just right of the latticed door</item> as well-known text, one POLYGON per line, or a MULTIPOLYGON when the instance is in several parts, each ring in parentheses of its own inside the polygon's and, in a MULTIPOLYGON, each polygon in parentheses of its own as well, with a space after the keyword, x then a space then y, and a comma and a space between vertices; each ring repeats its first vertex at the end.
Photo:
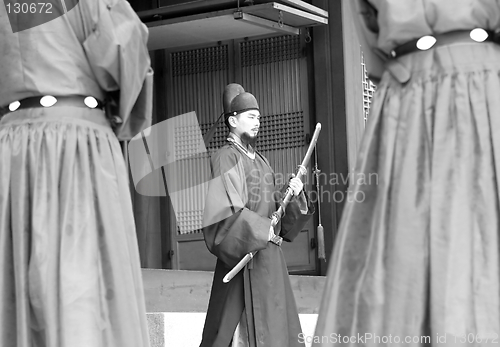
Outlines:
MULTIPOLYGON (((315 113, 316 121, 323 125, 322 134, 317 144, 318 165, 328 178, 348 177, 341 2, 313 0, 313 4, 326 8, 331 16, 328 26, 317 26, 312 29, 315 113)), ((323 186, 325 195, 320 197, 327 261, 331 258, 347 193, 347 185, 342 179, 328 183, 323 186)), ((321 274, 326 274, 327 265, 320 262, 320 266, 321 274)))

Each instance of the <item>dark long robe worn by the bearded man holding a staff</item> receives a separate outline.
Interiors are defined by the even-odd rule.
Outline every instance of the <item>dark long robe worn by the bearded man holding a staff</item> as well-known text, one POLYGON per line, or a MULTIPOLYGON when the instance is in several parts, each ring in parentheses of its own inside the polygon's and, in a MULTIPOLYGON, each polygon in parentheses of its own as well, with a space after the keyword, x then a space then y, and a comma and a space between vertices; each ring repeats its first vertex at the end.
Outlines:
MULTIPOLYGON (((302 332, 281 248, 268 242, 271 214, 279 207, 269 162, 256 153, 250 159, 234 144, 211 159, 203 233, 217 265, 200 347, 228 347, 240 319, 246 322, 250 346, 293 347, 302 332), (247 253, 259 251, 229 283, 223 277, 247 253)), ((309 205, 302 195, 303 207, 309 205)), ((313 213, 300 210, 292 198, 275 233, 291 242, 313 213)))

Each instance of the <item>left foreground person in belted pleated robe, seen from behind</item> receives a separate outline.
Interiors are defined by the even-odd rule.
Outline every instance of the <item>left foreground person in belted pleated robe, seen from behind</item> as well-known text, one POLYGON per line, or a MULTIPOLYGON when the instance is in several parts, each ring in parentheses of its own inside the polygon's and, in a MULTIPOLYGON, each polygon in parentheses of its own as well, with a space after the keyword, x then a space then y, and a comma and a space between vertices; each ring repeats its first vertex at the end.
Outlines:
POLYGON ((147 29, 124 0, 80 1, 15 33, 9 9, 0 5, 0 346, 148 346, 117 140, 150 124, 147 29))

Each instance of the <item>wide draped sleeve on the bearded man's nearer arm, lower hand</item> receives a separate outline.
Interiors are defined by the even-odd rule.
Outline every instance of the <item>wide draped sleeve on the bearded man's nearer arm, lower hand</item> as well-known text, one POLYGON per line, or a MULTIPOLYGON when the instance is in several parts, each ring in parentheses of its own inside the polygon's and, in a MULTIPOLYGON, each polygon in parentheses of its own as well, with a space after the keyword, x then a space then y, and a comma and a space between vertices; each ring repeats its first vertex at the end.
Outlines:
POLYGON ((245 254, 267 247, 271 220, 245 207, 245 170, 235 150, 223 148, 211 165, 203 234, 209 251, 233 267, 245 254))

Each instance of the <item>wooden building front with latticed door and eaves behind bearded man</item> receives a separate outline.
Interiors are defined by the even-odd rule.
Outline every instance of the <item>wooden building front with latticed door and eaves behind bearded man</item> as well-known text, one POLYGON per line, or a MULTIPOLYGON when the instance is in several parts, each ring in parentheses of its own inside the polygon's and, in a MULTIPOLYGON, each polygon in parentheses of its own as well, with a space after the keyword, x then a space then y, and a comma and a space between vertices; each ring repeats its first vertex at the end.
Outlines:
MULTIPOLYGON (((321 204, 327 259, 347 190, 344 180, 332 177, 352 173, 367 103, 361 52, 344 1, 349 0, 129 0, 150 29, 154 124, 194 111, 205 133, 222 112, 225 85, 240 83, 259 101, 257 149, 282 185, 305 154, 315 124, 322 123, 321 192, 312 196, 321 204)), ((182 185, 207 175, 209 155, 226 135, 221 122, 207 152, 180 160, 182 185)), ((178 143, 179 151, 190 146, 178 143)), ((309 191, 316 190, 313 165, 314 158, 306 179, 309 191)), ((203 190, 175 207, 168 193, 132 191, 142 267, 214 269, 200 230, 203 190)), ((316 214, 293 243, 283 246, 290 273, 326 272, 327 263, 317 259, 317 225, 316 214)))

